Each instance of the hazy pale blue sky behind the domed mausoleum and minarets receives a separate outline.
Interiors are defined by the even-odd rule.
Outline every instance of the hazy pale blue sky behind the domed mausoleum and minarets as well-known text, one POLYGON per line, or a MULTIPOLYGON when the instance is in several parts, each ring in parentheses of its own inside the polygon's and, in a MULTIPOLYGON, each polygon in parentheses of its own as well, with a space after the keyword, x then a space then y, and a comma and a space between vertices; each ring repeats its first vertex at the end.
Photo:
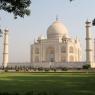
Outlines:
MULTIPOLYGON (((12 14, 0 11, 1 28, 10 29, 10 62, 30 61, 30 45, 39 35, 46 36, 47 28, 55 21, 56 15, 68 28, 70 35, 80 39, 82 49, 85 50, 85 21, 93 20, 95 17, 95 0, 74 0, 72 3, 69 0, 32 0, 30 9, 29 17, 17 20, 14 20, 12 14)), ((0 38, 0 63, 2 63, 2 44, 0 38)))

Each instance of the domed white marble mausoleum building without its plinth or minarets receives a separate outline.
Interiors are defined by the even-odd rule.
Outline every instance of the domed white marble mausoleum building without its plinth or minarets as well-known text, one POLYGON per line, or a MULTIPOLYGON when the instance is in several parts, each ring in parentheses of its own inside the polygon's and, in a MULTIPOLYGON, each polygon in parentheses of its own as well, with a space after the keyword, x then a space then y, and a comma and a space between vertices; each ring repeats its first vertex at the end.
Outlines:
POLYGON ((35 62, 79 62, 81 46, 72 39, 60 21, 54 21, 47 30, 47 39, 38 37, 31 45, 31 63, 35 62))

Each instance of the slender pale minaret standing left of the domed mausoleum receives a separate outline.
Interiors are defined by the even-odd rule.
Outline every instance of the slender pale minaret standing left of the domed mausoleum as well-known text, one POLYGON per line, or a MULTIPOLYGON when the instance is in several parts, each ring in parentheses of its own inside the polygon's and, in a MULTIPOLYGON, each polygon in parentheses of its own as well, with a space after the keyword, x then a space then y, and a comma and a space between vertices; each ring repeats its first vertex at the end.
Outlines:
POLYGON ((3 67, 6 68, 8 65, 8 32, 6 28, 4 30, 4 49, 3 49, 3 67))

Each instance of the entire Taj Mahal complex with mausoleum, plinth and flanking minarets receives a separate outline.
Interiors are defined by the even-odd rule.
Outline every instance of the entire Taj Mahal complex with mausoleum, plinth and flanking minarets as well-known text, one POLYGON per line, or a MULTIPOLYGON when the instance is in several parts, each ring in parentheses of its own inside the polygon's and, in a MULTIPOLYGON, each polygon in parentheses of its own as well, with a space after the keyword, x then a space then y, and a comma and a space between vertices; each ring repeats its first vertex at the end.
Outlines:
POLYGON ((82 68, 90 64, 95 68, 94 46, 91 31, 91 22, 86 21, 86 61, 82 61, 82 47, 78 38, 72 38, 66 26, 56 19, 47 29, 47 37, 39 36, 31 45, 30 63, 8 62, 8 30, 5 40, 5 54, 3 54, 3 66, 32 66, 34 68, 82 68), (7 53, 6 53, 7 52, 7 53))

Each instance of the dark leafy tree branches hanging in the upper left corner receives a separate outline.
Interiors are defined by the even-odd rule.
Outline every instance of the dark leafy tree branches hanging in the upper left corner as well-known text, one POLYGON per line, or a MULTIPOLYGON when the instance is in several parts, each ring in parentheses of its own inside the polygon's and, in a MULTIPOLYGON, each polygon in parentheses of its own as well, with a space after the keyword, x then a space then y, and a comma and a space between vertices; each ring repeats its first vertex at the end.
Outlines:
POLYGON ((14 18, 30 15, 30 0, 0 0, 0 10, 13 13, 14 18))

